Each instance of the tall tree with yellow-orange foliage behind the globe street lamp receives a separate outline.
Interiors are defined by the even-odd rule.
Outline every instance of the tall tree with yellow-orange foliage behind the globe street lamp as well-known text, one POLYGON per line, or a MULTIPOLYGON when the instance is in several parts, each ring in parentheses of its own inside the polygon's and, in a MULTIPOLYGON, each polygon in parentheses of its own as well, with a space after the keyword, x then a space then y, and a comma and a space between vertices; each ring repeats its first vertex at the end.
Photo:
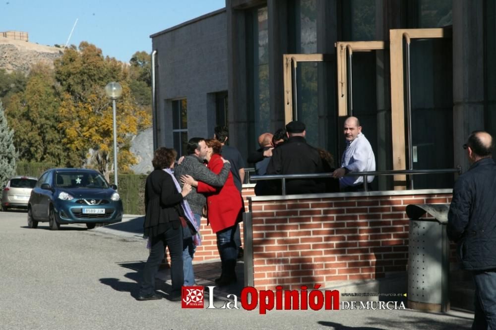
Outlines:
POLYGON ((55 78, 63 91, 58 126, 64 135, 62 142, 80 155, 70 165, 86 164, 107 179, 114 171, 113 113, 104 88, 111 81, 122 85, 123 95, 117 100, 118 164, 120 172, 129 172, 129 167, 137 163, 129 151, 130 139, 151 120, 131 95, 127 67, 115 58, 104 57, 94 45, 82 42, 79 51, 65 50, 55 61, 55 78))

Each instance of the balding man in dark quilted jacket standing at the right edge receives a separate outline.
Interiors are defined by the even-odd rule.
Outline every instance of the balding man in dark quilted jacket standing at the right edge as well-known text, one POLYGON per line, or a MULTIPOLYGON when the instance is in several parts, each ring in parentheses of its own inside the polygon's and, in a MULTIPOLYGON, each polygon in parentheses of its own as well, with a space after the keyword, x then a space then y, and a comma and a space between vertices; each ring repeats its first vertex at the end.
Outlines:
POLYGON ((472 329, 496 329, 496 164, 493 138, 473 132, 463 145, 470 168, 453 188, 448 213, 449 239, 458 243, 462 268, 475 281, 472 329))

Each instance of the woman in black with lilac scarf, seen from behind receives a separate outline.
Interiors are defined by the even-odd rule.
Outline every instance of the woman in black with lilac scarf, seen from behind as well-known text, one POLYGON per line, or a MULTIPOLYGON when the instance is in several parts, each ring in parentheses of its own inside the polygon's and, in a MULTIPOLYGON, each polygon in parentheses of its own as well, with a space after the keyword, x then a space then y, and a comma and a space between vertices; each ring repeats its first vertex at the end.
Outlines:
POLYGON ((181 300, 183 285, 183 227, 179 220, 181 203, 191 191, 185 184, 178 191, 170 169, 174 167, 177 152, 174 149, 158 148, 153 157, 155 168, 146 178, 145 186, 145 222, 143 232, 149 237, 150 255, 143 269, 137 300, 161 299, 155 292, 155 275, 162 259, 165 247, 169 247, 171 256, 172 291, 170 300, 181 300))

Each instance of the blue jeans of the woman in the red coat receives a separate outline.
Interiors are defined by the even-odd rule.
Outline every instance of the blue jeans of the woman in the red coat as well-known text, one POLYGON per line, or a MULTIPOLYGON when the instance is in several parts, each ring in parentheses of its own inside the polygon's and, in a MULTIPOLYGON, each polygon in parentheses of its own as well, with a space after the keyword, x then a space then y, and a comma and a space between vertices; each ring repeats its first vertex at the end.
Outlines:
POLYGON ((224 275, 235 275, 234 268, 238 259, 238 247, 241 245, 240 226, 234 226, 217 232, 217 249, 219 250, 224 275))

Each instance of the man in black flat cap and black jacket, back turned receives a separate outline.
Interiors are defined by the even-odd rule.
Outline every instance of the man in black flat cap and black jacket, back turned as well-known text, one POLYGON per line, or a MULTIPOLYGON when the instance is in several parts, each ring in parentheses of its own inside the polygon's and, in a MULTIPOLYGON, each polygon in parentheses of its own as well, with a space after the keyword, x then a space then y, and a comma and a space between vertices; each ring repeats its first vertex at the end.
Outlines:
MULTIPOLYGON (((286 125, 288 140, 272 151, 267 174, 309 174, 323 172, 318 151, 305 140, 305 124, 295 120, 286 125)), ((324 192, 321 180, 286 180, 287 194, 310 194, 324 192)))

